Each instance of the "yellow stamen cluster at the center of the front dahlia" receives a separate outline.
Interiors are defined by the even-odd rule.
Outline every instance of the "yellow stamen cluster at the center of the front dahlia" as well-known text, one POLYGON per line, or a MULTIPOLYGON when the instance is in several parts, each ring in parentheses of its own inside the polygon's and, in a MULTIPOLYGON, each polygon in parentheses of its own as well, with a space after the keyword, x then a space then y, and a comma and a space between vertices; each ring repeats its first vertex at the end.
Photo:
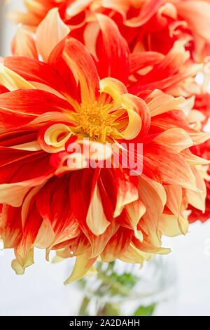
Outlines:
POLYGON ((99 105, 97 102, 92 104, 80 105, 78 112, 78 133, 85 133, 93 140, 105 142, 106 135, 111 133, 111 125, 114 121, 113 114, 110 114, 113 104, 99 105))

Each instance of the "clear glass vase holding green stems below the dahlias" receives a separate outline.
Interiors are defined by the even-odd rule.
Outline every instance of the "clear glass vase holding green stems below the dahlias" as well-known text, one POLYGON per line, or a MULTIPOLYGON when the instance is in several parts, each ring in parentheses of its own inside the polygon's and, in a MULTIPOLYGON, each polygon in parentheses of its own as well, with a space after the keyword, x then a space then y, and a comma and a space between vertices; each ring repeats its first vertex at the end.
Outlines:
POLYGON ((176 267, 171 256, 144 263, 97 262, 97 273, 69 286, 72 316, 174 315, 176 267))

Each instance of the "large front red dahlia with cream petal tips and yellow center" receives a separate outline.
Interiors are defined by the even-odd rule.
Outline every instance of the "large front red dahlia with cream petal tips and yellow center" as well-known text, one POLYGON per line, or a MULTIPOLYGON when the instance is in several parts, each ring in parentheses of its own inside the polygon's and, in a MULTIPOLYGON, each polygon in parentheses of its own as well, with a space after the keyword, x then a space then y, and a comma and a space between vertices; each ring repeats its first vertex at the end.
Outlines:
MULTIPOLYGON (((15 249, 18 274, 34 262, 34 247, 46 249, 47 259, 51 249, 62 258, 76 256, 69 283, 99 256, 143 263, 169 252, 161 247, 162 234, 186 234, 188 204, 204 211, 200 166, 209 164, 189 148, 209 134, 188 124, 188 100, 153 84, 141 98, 128 93, 121 79, 131 70, 124 39, 118 41, 119 77, 99 79, 100 64, 79 41, 66 39, 69 28, 57 11, 50 15, 36 43, 25 34, 24 49, 45 62, 10 57, 0 65, 0 234, 4 246, 15 249), (136 148, 132 154, 143 161, 143 172, 131 176, 122 161, 109 169, 75 168, 72 148, 78 142, 76 157, 84 159, 83 138, 102 155, 106 142, 118 148, 141 143, 143 156, 136 148)), ((113 72, 118 52, 109 41, 113 72)))

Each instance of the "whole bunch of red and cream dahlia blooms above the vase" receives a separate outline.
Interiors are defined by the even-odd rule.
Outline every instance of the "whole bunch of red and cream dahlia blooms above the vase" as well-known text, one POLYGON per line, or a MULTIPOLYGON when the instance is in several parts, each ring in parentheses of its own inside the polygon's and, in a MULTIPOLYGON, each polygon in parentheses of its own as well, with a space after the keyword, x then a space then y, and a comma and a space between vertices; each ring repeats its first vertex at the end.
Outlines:
POLYGON ((0 235, 13 269, 55 250, 76 257, 69 284, 97 259, 169 253, 162 235, 209 218, 210 2, 24 3, 0 60, 0 235))

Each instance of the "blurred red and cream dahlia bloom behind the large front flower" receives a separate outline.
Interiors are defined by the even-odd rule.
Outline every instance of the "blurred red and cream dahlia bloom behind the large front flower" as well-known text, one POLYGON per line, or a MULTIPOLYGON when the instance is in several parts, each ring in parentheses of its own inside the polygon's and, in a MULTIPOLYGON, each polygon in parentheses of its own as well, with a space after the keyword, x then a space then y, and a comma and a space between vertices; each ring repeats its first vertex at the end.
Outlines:
MULTIPOLYGON (((45 18, 50 16, 54 21, 59 11, 66 23, 64 33, 68 25, 69 35, 85 44, 94 56, 101 79, 120 79, 134 95, 141 95, 141 91, 149 87, 151 91, 159 88, 174 96, 196 95, 197 110, 205 108, 209 114, 209 97, 202 93, 201 105, 200 88, 192 80, 196 72, 202 71, 202 67, 194 63, 205 61, 209 52, 209 1, 35 0, 32 3, 25 1, 25 5, 27 13, 13 12, 13 18, 25 27, 33 26, 37 35, 48 35, 45 18), (123 40, 127 43, 123 44, 123 40), (110 47, 110 44, 114 46, 110 47), (120 60, 127 56, 126 47, 130 55, 122 71, 120 60), (111 60, 113 53, 116 66, 103 65, 111 60)), ((48 48, 55 40, 50 41, 48 37, 45 42, 48 48)), ((45 60, 46 51, 41 52, 40 48, 38 44, 34 45, 29 32, 18 29, 12 45, 13 55, 38 58, 41 53, 45 60), (30 47, 23 46, 29 44, 30 47)))

